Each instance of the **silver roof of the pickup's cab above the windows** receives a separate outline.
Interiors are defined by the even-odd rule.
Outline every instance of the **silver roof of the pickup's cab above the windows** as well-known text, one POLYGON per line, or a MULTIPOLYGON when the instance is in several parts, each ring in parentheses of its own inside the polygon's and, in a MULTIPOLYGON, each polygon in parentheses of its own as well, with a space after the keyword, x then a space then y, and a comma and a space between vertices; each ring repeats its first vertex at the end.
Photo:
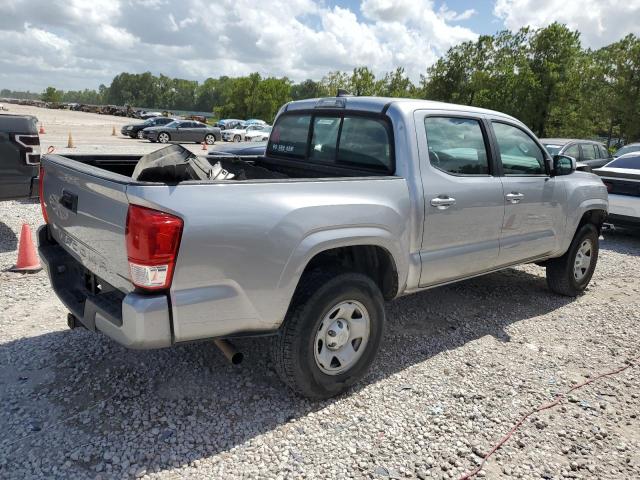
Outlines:
POLYGON ((391 107, 397 107, 404 112, 413 110, 449 110, 468 112, 476 114, 488 114, 493 116, 499 116, 508 118, 510 120, 519 122, 519 120, 507 115, 505 113, 496 112, 494 110, 487 110, 485 108, 470 107, 467 105, 458 105, 454 103, 436 102, 434 100, 420 100, 415 98, 392 98, 392 97, 354 97, 354 96, 338 96, 338 97, 324 97, 324 98, 311 98, 307 100, 298 100, 290 102, 284 107, 284 111, 291 110, 308 110, 317 108, 318 105, 324 104, 329 106, 331 102, 344 102, 344 107, 349 110, 360 110, 372 113, 381 113, 384 110, 388 110, 391 107))

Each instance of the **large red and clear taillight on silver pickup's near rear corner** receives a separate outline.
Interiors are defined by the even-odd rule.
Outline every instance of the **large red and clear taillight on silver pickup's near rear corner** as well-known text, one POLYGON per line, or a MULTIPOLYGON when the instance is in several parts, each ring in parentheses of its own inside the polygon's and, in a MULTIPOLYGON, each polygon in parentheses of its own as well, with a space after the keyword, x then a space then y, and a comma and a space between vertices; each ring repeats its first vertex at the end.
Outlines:
POLYGON ((139 205, 127 213, 131 281, 147 290, 169 288, 182 236, 182 219, 139 205))

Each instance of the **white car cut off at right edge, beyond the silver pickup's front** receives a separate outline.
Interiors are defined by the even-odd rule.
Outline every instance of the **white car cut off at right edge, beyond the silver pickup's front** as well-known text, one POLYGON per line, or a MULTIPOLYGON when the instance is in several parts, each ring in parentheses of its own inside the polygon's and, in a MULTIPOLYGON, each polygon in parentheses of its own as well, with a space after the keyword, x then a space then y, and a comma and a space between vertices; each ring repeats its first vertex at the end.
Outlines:
POLYGON ((607 221, 640 228, 640 151, 621 155, 593 173, 609 192, 607 221))

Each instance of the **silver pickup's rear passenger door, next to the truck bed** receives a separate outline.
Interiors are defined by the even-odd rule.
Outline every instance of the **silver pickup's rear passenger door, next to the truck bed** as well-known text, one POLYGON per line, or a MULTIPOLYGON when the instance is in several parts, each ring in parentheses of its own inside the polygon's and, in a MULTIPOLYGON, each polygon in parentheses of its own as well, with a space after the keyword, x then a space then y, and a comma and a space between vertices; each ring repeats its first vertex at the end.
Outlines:
POLYGON ((470 276, 498 263, 502 183, 481 117, 417 111, 425 219, 420 285, 470 276))

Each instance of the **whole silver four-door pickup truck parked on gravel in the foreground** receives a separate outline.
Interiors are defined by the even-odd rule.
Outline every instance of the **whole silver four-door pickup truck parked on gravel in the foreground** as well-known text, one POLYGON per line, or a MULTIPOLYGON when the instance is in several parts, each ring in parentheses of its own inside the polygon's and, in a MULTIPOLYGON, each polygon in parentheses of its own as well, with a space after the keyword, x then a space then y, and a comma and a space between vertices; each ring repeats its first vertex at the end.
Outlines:
POLYGON ((431 101, 288 103, 264 156, 222 160, 232 179, 140 182, 137 160, 42 161, 39 251, 72 326, 138 349, 267 335, 312 398, 365 374, 386 300, 530 262, 578 295, 608 208, 518 120, 431 101))

